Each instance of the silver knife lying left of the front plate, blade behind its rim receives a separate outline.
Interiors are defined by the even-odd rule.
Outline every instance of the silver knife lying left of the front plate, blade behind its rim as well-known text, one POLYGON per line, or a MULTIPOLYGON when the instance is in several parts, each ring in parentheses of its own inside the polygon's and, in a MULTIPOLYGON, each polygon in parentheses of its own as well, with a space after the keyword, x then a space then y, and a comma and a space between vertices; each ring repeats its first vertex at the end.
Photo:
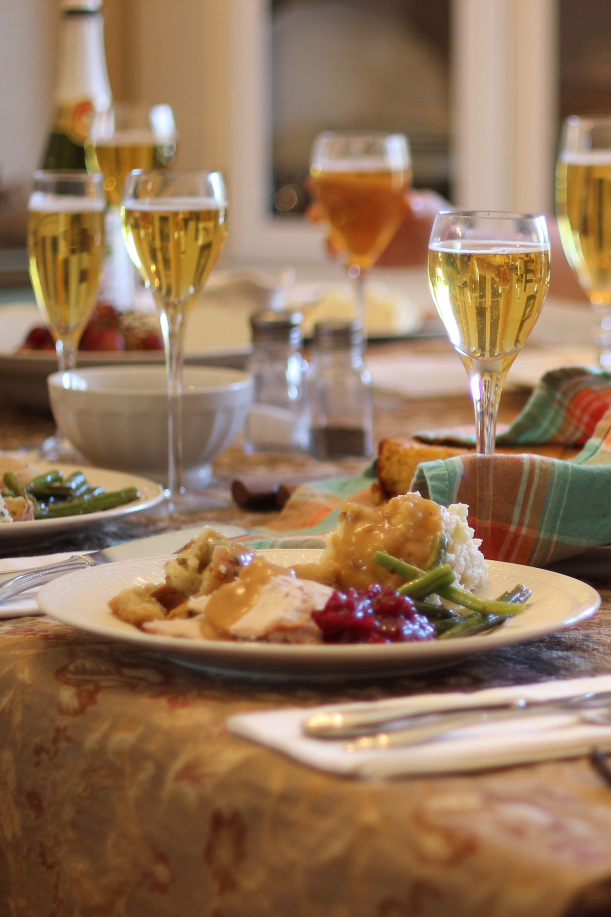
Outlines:
MULTIPOLYGON (((18 523, 17 523, 18 525, 18 523)), ((202 532, 205 524, 191 528, 181 528, 174 532, 162 532, 145 538, 135 538, 121 545, 104 547, 99 551, 75 554, 71 558, 46 564, 43 567, 32 567, 0 572, 0 602, 10 599, 19 592, 25 592, 35 586, 64 576, 72 570, 98 567, 101 564, 115 563, 117 560, 135 560, 137 558, 160 557, 165 554, 177 554, 191 538, 202 532)), ((246 529, 239 525, 213 525, 213 528, 226 538, 243 536, 246 529)))

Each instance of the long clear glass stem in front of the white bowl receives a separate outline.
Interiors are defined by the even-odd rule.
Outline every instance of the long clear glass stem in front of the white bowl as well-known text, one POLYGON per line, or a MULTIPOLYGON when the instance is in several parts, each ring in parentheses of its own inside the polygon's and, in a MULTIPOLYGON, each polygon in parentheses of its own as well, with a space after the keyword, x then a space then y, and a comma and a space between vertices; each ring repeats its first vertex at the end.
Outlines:
POLYGON ((182 359, 185 327, 185 304, 164 305, 159 321, 163 336, 168 378, 168 486, 166 496, 184 493, 182 484, 182 359))

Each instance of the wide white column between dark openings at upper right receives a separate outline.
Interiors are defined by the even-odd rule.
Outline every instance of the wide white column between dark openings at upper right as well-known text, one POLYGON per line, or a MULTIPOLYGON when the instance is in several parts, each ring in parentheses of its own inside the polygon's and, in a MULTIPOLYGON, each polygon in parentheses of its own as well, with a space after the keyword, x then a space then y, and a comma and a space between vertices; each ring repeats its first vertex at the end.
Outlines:
POLYGON ((454 203, 552 206, 557 0, 454 0, 454 203))

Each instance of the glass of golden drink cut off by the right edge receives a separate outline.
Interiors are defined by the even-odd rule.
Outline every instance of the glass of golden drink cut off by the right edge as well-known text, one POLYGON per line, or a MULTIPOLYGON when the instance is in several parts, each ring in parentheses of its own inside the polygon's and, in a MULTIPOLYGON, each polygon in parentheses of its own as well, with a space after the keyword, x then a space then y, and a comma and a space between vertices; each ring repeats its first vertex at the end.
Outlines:
POLYGON ((611 369, 611 118, 564 122, 556 213, 566 259, 595 310, 601 366, 611 369))

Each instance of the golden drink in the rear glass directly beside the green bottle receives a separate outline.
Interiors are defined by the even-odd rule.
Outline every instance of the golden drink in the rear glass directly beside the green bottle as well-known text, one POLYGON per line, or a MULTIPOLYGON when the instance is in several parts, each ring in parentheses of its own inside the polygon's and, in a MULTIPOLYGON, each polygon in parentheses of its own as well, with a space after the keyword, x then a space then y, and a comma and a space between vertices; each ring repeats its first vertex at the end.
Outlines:
POLYGON ((125 179, 133 169, 165 169, 176 159, 176 142, 153 138, 111 138, 88 140, 85 161, 90 172, 102 172, 106 200, 112 207, 121 204, 125 179))

